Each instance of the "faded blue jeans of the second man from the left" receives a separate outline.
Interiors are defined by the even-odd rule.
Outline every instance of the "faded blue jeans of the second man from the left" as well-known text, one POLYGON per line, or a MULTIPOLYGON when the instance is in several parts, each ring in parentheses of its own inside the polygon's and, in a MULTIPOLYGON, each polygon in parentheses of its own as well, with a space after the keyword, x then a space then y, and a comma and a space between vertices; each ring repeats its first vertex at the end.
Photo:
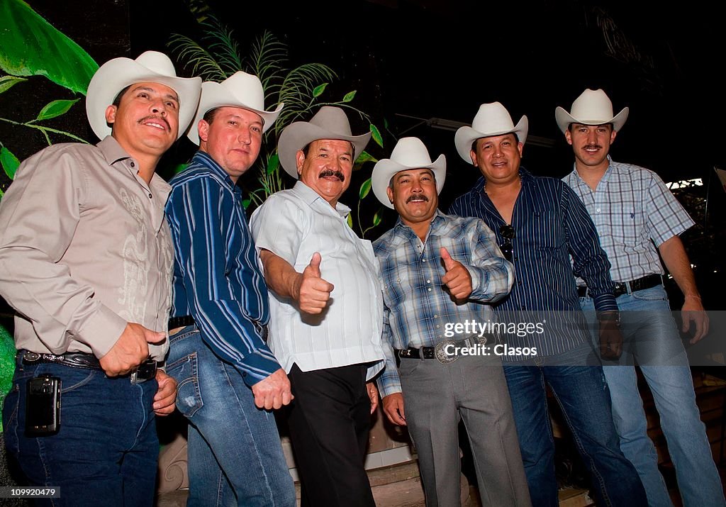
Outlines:
POLYGON ((294 506, 274 415, 255 406, 240 372, 212 352, 195 325, 169 338, 166 370, 190 423, 187 506, 294 506))

